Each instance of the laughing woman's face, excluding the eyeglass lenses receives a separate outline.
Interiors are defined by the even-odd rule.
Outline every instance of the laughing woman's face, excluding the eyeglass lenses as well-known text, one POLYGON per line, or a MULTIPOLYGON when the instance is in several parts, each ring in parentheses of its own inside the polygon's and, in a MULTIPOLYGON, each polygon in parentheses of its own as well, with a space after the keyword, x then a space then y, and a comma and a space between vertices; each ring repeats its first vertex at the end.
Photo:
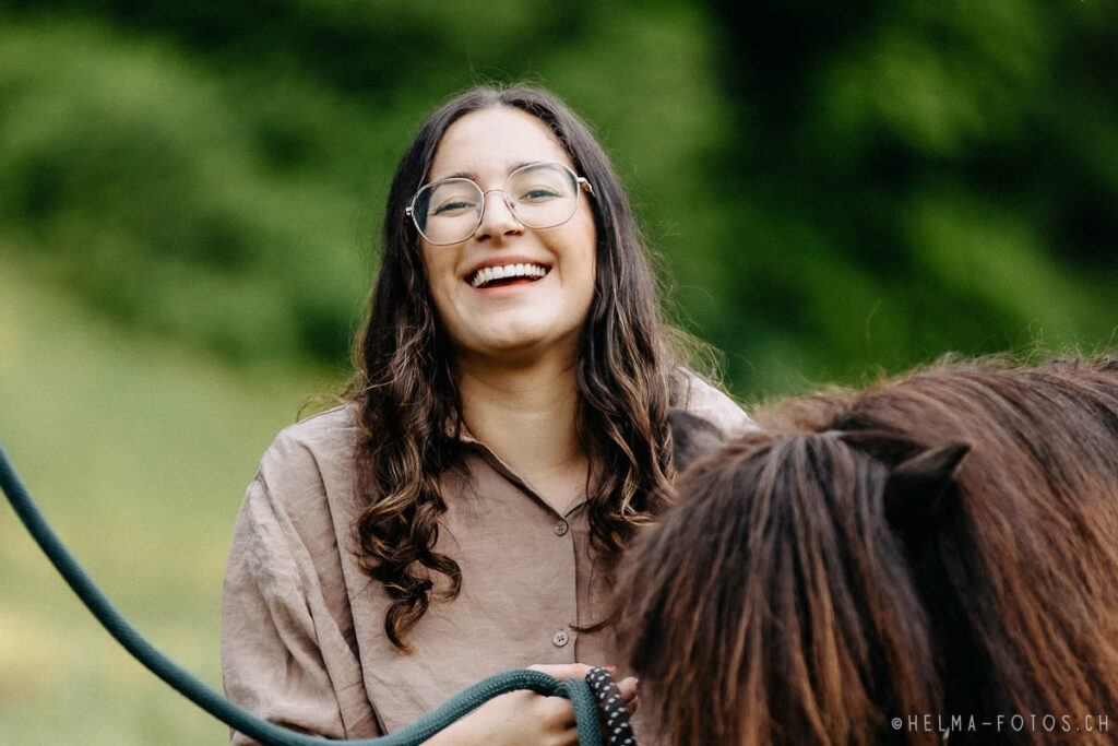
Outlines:
POLYGON ((435 308, 459 360, 577 357, 594 299, 597 236, 588 198, 578 191, 567 223, 528 228, 500 191, 515 169, 546 161, 574 169, 551 130, 518 108, 473 112, 443 134, 428 181, 467 177, 487 192, 472 236, 449 246, 419 239, 435 308), (479 272, 489 267, 517 267, 509 273, 523 277, 483 283, 493 270, 479 272))

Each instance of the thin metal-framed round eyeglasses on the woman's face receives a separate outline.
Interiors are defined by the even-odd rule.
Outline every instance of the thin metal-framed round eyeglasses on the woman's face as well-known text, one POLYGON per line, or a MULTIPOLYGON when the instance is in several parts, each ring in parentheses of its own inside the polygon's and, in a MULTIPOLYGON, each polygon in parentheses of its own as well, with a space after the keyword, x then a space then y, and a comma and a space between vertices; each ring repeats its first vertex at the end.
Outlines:
POLYGON ((575 215, 579 189, 594 193, 589 181, 562 163, 530 163, 510 173, 503 189, 482 191, 472 179, 459 177, 433 181, 404 211, 428 244, 449 246, 477 232, 490 191, 504 195, 504 204, 524 227, 553 228, 575 215))

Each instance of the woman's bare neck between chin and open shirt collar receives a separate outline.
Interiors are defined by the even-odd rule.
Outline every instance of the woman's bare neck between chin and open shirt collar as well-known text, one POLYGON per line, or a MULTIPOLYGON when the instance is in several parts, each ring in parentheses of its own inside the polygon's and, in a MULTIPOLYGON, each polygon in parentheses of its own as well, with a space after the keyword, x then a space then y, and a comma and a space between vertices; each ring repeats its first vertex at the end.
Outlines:
POLYGON ((575 362, 509 367, 458 360, 462 416, 559 512, 585 497, 588 460, 577 432, 575 362))

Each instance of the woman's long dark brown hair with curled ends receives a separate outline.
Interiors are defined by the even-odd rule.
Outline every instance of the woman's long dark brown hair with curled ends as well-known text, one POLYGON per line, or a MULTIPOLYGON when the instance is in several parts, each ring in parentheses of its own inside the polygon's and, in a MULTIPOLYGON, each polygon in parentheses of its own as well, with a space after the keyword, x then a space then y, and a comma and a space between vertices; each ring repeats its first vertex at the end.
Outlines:
POLYGON ((423 125, 392 180, 380 273, 354 347, 359 374, 350 388, 361 431, 357 489, 366 504, 356 526, 359 556, 392 598, 385 632, 405 652, 408 631, 432 603, 434 574, 449 580, 446 599, 463 583, 454 558, 435 549, 447 508, 439 476, 461 463, 462 402, 405 207, 426 181, 447 128, 495 106, 547 124, 594 185, 597 278, 577 362, 577 431, 594 465, 586 509, 599 558, 616 558, 635 527, 672 495, 667 412, 682 385, 686 338, 662 322, 646 248, 608 158, 586 125, 542 91, 481 87, 454 98, 423 125))

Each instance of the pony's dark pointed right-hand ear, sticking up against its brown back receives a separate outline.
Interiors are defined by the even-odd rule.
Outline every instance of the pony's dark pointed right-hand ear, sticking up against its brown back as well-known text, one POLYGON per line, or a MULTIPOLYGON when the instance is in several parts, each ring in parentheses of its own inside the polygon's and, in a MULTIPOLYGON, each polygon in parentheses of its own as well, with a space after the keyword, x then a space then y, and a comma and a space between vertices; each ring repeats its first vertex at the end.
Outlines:
POLYGON ((925 451, 893 466, 885 482, 885 519, 897 529, 916 528, 944 508, 955 491, 955 470, 970 452, 966 443, 925 451))

